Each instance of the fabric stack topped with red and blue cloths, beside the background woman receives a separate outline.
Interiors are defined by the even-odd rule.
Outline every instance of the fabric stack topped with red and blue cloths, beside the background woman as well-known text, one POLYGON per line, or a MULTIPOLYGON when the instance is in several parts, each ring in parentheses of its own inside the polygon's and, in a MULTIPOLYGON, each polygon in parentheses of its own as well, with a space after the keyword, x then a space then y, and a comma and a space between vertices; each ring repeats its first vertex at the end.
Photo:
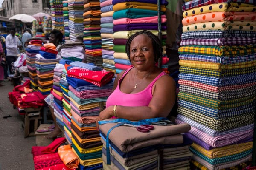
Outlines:
POLYGON ((38 77, 38 91, 42 94, 50 94, 53 86, 53 75, 55 64, 58 63, 60 57, 57 57, 58 51, 52 43, 44 44, 35 57, 35 66, 38 77))

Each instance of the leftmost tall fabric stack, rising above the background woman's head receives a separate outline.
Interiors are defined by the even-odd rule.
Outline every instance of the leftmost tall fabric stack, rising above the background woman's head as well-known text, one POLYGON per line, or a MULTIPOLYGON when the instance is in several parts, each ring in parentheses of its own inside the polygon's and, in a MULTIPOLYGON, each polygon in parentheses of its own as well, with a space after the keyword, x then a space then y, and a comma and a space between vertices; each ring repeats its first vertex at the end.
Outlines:
POLYGON ((64 17, 62 0, 50 0, 52 11, 52 28, 64 34, 64 17))

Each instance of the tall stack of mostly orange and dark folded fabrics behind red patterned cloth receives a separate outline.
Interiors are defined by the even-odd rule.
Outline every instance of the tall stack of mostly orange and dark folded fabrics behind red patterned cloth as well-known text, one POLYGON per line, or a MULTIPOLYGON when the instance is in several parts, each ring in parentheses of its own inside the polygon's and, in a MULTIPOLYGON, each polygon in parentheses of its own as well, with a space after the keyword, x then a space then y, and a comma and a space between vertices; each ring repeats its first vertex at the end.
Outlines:
POLYGON ((99 0, 84 1, 84 45, 88 63, 102 67, 99 0))

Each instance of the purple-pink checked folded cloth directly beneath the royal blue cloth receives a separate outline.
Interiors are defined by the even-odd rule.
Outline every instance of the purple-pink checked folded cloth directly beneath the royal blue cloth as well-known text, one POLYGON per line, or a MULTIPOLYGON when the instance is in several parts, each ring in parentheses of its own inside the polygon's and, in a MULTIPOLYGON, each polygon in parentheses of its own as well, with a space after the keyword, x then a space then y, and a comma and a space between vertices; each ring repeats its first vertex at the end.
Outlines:
POLYGON ((100 90, 84 90, 84 91, 76 91, 71 85, 68 87, 70 91, 73 92, 80 99, 88 99, 88 98, 98 98, 98 97, 108 97, 112 93, 112 89, 100 89, 100 90))

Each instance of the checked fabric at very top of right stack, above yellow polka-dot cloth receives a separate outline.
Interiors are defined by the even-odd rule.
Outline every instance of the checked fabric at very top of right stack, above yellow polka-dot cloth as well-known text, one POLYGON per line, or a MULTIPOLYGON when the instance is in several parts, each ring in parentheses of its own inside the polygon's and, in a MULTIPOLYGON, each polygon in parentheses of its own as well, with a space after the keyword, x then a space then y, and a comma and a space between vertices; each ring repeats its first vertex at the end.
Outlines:
POLYGON ((186 11, 193 8, 198 8, 201 6, 211 5, 213 3, 227 3, 230 0, 192 0, 189 2, 185 2, 182 6, 182 10, 186 11))

